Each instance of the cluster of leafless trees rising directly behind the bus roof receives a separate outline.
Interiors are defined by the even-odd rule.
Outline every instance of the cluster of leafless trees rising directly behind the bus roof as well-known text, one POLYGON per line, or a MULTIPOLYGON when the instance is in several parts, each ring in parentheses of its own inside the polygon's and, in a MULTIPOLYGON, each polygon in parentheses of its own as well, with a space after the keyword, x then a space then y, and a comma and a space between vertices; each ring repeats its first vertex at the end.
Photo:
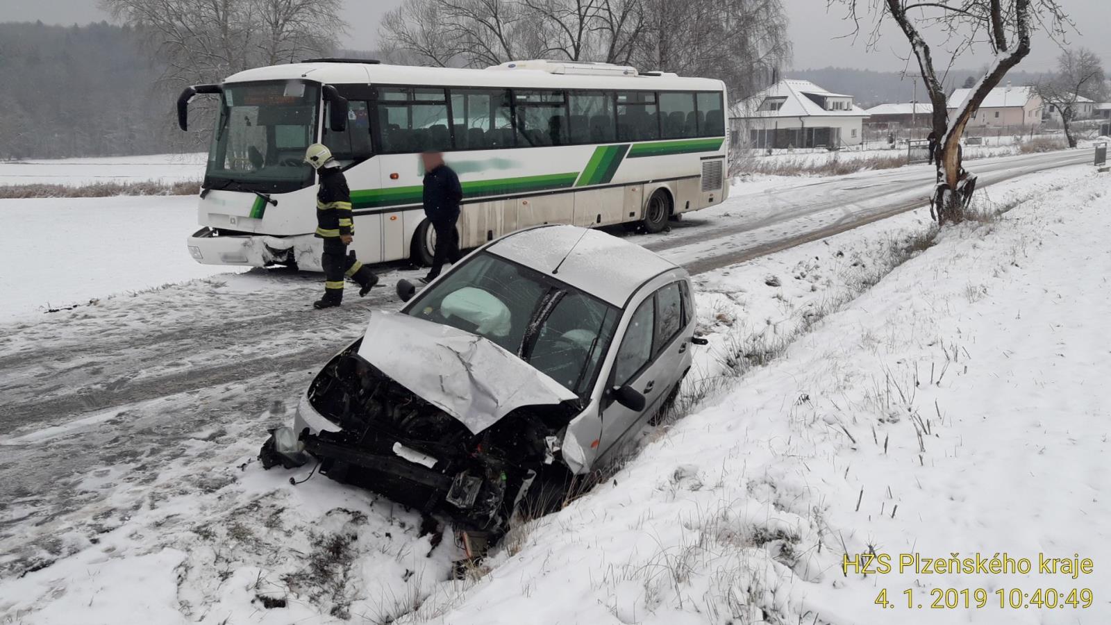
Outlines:
POLYGON ((632 63, 720 78, 731 99, 790 57, 781 0, 408 0, 380 32, 391 52, 426 65, 632 63))

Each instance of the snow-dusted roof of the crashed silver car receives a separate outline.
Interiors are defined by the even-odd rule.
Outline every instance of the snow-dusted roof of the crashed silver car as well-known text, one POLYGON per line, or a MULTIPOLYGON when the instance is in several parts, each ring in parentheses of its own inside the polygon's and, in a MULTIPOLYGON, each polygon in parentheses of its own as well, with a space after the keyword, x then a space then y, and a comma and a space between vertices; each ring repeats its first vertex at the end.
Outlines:
POLYGON ((521 230, 498 239, 487 250, 618 308, 623 308, 644 282, 669 270, 682 270, 639 245, 578 226, 521 230))

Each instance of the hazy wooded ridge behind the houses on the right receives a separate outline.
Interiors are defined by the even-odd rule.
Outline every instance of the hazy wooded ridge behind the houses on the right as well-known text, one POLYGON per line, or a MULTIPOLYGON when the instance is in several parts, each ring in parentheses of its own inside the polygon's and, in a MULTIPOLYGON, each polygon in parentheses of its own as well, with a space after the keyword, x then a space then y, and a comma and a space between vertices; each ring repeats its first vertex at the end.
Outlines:
MULTIPOLYGON (((918 73, 911 71, 911 73, 918 73)), ((848 69, 828 67, 823 69, 803 69, 784 71, 785 78, 797 78, 809 80, 823 89, 834 93, 848 93, 855 98, 857 106, 868 109, 877 105, 888 102, 909 102, 914 97, 914 80, 918 80, 918 101, 929 102, 930 97, 922 88, 921 79, 903 77, 898 71, 872 71, 868 69, 848 69)), ((945 76, 945 92, 952 93, 953 89, 964 86, 969 78, 978 80, 983 76, 983 69, 951 70, 945 76)), ((1038 79, 1038 73, 1012 70, 1003 79, 1002 85, 1008 81, 1015 87, 1020 85, 1033 85, 1038 79)))

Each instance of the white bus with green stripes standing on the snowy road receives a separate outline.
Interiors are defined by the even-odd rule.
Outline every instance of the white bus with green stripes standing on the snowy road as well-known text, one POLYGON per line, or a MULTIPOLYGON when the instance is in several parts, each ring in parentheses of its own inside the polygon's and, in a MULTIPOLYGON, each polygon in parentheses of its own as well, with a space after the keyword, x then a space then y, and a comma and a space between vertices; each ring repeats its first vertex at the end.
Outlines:
POLYGON ((640 224, 725 199, 724 85, 605 63, 447 69, 318 59, 247 70, 218 95, 200 194, 198 262, 320 270, 320 141, 342 162, 364 262, 430 264, 419 153, 443 150, 463 188, 460 247, 540 224, 640 224))

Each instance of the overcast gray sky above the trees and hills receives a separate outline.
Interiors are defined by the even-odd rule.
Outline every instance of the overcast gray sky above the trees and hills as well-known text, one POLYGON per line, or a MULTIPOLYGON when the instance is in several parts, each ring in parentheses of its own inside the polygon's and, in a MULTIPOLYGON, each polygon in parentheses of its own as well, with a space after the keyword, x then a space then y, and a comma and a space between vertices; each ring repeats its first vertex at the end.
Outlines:
MULTIPOLYGON (((349 26, 346 44, 354 49, 377 44, 378 22, 389 9, 401 0, 347 0, 349 26)), ((783 0, 791 19, 791 39, 794 42, 794 67, 798 69, 827 66, 900 70, 905 61, 908 46, 892 28, 884 30, 874 50, 867 47, 867 33, 855 40, 838 39, 852 32, 852 23, 841 11, 827 13, 825 0, 783 0)), ((1069 43, 1085 46, 1111 66, 1111 0, 1062 0, 1080 29, 1069 38, 1069 43), (1100 30, 1102 29, 1102 32, 1100 30)), ((86 23, 107 19, 97 8, 97 0, 0 0, 0 21, 42 20, 48 23, 86 23)), ((1050 69, 1060 52, 1055 43, 1040 36, 1019 69, 1041 71, 1050 69)), ((975 69, 984 65, 982 57, 962 58, 957 68, 975 69)), ((940 69, 940 68, 939 68, 940 69)))

